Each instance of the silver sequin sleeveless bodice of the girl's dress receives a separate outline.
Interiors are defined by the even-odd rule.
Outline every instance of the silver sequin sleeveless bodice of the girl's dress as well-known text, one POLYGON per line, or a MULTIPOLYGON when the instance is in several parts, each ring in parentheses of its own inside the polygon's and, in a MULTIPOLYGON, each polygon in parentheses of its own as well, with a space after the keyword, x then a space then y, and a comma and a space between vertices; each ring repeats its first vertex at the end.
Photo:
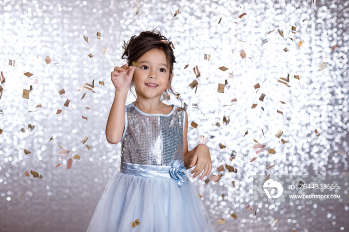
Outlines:
POLYGON ((168 115, 146 114, 133 103, 125 106, 125 130, 121 138, 121 161, 170 166, 184 161, 184 110, 174 106, 168 115))

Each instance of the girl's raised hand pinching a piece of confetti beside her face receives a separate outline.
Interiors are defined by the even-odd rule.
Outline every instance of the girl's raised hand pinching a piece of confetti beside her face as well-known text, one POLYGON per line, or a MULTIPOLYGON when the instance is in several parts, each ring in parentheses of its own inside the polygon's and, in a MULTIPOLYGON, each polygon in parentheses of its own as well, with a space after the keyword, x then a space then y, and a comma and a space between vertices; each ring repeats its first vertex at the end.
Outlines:
POLYGON ((132 81, 133 73, 136 67, 129 66, 127 63, 121 67, 115 67, 111 72, 111 79, 115 90, 118 92, 127 92, 132 81))

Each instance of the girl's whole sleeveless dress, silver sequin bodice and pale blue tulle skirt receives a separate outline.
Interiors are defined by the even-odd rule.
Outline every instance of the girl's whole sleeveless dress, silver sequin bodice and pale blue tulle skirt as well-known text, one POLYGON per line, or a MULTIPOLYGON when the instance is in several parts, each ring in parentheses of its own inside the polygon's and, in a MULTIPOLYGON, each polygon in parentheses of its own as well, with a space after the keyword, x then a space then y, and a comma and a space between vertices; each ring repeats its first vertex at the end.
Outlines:
POLYGON ((183 156, 185 112, 125 106, 121 167, 107 183, 87 232, 214 232, 183 156))

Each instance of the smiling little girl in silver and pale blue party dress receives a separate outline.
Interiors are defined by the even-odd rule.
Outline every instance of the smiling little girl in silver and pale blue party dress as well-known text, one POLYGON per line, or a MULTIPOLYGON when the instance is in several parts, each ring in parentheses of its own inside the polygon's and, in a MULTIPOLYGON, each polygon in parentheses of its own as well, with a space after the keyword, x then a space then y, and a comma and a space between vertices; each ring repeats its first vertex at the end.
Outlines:
MULTIPOLYGON (((171 42, 158 31, 132 36, 127 64, 115 67, 115 98, 106 126, 109 143, 121 142, 121 170, 109 180, 88 232, 214 231, 186 169, 200 180, 211 172, 206 145, 188 151, 186 111, 161 102, 173 78, 171 42), (137 98, 127 106, 128 89, 137 98)), ((172 91, 173 93, 173 91, 172 91)))

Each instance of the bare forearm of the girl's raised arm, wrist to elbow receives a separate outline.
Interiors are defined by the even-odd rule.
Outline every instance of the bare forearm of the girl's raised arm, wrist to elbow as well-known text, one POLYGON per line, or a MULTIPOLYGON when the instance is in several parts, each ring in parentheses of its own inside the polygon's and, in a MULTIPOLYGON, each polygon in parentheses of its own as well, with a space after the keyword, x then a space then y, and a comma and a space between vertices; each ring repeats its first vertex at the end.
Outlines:
POLYGON ((125 104, 127 91, 115 91, 114 102, 109 112, 105 135, 112 144, 120 142, 125 129, 125 104))

